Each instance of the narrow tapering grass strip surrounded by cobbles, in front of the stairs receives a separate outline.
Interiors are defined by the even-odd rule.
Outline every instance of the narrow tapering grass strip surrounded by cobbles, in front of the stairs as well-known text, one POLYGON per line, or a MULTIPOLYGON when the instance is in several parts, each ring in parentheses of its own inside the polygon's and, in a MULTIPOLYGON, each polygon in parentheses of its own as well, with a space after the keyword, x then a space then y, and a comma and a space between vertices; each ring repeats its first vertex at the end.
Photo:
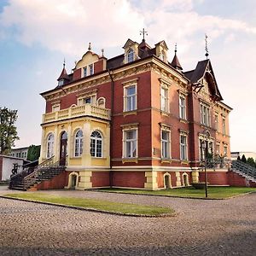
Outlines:
POLYGON ((174 211, 167 207, 152 207, 137 204, 117 203, 111 201, 101 201, 86 198, 64 197, 59 195, 45 195, 44 193, 20 193, 4 195, 10 198, 20 198, 32 201, 43 201, 56 204, 62 204, 73 207, 90 208, 108 212, 119 212, 124 214, 143 214, 147 216, 172 214, 174 211))

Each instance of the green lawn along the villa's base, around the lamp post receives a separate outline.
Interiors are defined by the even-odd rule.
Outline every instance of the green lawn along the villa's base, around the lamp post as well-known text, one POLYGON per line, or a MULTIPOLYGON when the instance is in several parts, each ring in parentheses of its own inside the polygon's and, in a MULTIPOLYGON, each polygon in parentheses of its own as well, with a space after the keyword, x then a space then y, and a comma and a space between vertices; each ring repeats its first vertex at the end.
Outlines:
MULTIPOLYGON (((98 189, 100 191, 113 193, 127 193, 138 195, 164 195, 191 198, 204 198, 205 189, 181 188, 181 189, 162 189, 162 190, 142 190, 142 189, 98 189)), ((248 192, 256 192, 256 188, 238 187, 208 187, 208 198, 229 198, 235 195, 242 195, 248 192)))

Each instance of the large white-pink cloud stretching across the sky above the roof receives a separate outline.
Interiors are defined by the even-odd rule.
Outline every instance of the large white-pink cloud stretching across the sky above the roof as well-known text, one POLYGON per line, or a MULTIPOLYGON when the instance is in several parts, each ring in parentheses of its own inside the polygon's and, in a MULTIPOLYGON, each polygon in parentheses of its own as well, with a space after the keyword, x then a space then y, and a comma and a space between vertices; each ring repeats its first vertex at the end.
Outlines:
MULTIPOLYGON (((91 42, 93 48, 113 48, 127 38, 139 39, 139 30, 146 26, 148 40, 166 39, 173 45, 183 45, 180 52, 188 52, 193 44, 203 44, 203 35, 213 40, 225 33, 256 34, 256 27, 241 20, 198 15, 195 3, 202 0, 143 0, 87 1, 73 0, 10 0, 0 15, 5 31, 15 28, 15 38, 22 44, 41 44, 64 55, 78 55, 91 42), (195 40, 191 37, 201 35, 195 40)), ((228 36, 230 37, 230 36, 228 36)), ((106 55, 108 52, 106 51, 106 55)))

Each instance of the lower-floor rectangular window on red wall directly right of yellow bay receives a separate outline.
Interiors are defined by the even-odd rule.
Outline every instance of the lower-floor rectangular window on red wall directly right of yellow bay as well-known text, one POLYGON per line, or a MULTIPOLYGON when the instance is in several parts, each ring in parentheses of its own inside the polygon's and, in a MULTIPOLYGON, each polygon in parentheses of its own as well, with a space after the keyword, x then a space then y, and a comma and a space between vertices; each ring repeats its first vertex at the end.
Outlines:
POLYGON ((137 130, 124 131, 124 136, 124 157, 137 157, 137 130))

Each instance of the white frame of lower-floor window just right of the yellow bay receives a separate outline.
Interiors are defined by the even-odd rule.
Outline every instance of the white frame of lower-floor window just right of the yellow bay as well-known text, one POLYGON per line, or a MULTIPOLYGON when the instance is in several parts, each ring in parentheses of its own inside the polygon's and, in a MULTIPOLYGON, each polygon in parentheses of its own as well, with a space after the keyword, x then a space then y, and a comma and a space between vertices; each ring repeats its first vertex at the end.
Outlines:
POLYGON ((125 159, 135 159, 138 157, 138 129, 136 128, 129 128, 129 129, 123 129, 123 158, 125 159), (127 139, 126 135, 127 132, 133 131, 135 133, 135 138, 127 139), (130 143, 131 151, 130 154, 127 152, 127 143, 130 143), (135 145, 135 155, 133 155, 133 145, 135 145), (129 156, 130 155, 130 156, 129 156))

